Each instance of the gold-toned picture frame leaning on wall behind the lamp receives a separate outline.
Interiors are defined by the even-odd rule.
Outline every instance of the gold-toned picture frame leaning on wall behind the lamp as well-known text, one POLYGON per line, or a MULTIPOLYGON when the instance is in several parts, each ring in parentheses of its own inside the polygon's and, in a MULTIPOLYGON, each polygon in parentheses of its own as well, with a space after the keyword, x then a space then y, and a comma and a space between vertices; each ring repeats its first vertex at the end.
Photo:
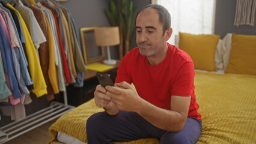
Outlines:
POLYGON ((94 29, 101 26, 91 26, 80 29, 82 53, 84 55, 85 64, 103 61, 105 59, 105 48, 96 46, 94 38, 94 29))

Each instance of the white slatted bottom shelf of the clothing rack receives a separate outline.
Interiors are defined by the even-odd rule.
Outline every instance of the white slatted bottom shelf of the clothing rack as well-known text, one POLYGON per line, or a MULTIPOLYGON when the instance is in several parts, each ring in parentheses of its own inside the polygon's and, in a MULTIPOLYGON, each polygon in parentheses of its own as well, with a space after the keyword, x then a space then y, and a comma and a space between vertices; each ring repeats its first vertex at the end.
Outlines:
POLYGON ((8 139, 2 143, 8 142, 9 140, 33 130, 34 128, 40 127, 41 125, 64 115, 64 113, 67 113, 72 109, 75 109, 75 107, 67 104, 67 91, 65 91, 64 104, 53 101, 49 107, 26 116, 22 121, 11 122, 10 124, 1 127, 0 129, 8 136, 8 139))

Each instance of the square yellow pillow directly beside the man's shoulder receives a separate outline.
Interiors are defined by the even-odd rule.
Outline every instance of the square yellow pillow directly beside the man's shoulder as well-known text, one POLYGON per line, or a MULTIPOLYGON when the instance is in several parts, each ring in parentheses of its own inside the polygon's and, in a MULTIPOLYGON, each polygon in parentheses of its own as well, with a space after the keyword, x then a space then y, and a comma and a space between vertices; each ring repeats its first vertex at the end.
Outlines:
POLYGON ((195 69, 216 71, 215 50, 219 35, 193 35, 180 32, 179 47, 189 54, 195 69))

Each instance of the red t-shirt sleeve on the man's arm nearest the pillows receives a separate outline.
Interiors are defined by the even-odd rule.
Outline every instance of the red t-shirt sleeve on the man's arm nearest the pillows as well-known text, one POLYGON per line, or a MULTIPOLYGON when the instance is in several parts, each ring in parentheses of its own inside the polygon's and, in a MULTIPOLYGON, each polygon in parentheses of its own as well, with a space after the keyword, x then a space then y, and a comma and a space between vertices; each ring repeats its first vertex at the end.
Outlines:
POLYGON ((194 64, 193 62, 186 62, 181 65, 180 70, 174 78, 172 85, 172 94, 177 96, 189 97, 195 89, 194 86, 194 64))

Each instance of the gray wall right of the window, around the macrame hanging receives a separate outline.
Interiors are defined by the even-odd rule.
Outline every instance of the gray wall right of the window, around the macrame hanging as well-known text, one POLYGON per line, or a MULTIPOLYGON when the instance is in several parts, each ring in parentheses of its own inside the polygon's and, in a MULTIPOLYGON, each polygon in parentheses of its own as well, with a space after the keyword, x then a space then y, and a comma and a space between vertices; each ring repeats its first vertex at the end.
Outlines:
MULTIPOLYGON (((256 34, 256 23, 254 26, 234 26, 235 15, 236 1, 216 0, 215 34, 221 35, 221 38, 228 32, 235 32, 237 34, 256 34)), ((256 15, 254 19, 256 20, 256 15)))

